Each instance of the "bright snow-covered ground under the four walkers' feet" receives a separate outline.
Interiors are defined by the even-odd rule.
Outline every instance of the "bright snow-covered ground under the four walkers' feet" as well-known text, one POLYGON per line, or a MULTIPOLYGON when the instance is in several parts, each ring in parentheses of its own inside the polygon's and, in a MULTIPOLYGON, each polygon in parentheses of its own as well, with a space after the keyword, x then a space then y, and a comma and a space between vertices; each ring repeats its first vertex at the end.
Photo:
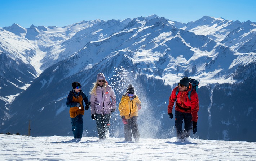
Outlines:
POLYGON ((0 160, 256 160, 256 142, 191 139, 28 137, 0 134, 0 160))

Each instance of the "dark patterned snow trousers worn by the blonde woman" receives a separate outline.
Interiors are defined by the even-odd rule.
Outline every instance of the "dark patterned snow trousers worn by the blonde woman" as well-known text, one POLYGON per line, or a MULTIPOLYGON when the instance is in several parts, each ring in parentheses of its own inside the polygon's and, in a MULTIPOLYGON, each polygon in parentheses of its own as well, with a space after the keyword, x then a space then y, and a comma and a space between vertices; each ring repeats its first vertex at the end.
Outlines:
POLYGON ((105 133, 109 130, 110 127, 111 113, 105 115, 95 114, 95 118, 99 138, 106 139, 105 133))

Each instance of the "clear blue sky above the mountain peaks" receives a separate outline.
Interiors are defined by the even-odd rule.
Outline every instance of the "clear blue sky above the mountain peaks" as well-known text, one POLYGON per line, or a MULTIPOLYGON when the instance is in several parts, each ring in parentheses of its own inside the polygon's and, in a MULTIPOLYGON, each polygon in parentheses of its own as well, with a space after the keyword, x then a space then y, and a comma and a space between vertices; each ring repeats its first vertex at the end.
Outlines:
POLYGON ((256 22, 256 0, 1 0, 0 27, 63 27, 82 20, 111 20, 156 14, 187 23, 203 16, 256 22))

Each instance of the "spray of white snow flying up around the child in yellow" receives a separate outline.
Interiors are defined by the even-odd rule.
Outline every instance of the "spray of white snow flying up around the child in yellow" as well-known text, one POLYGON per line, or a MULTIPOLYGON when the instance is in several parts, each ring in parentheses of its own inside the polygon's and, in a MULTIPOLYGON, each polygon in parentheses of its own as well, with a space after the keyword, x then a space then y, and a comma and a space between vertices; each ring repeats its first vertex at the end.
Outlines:
MULTIPOLYGON (((116 95, 123 95, 126 93, 126 89, 129 84, 132 84, 135 88, 135 94, 139 97, 141 101, 141 110, 139 111, 138 115, 138 128, 141 137, 143 138, 155 138, 156 134, 159 132, 160 120, 154 119, 154 112, 152 110, 151 101, 146 96, 146 89, 145 86, 138 81, 136 81, 137 74, 133 71, 127 71, 122 66, 120 68, 114 67, 114 75, 111 79, 111 87, 113 87, 116 95), (143 114, 143 115, 142 115, 143 114)), ((119 100, 120 102, 120 100, 119 100)), ((119 102, 116 102, 117 106, 119 102)), ((118 111, 118 110, 117 110, 118 111)), ((115 120, 120 119, 119 111, 118 114, 115 116, 115 120), (119 117, 119 118, 116 118, 119 117)), ((122 123, 120 120, 119 122, 122 123)), ((120 125, 120 124, 119 124, 120 125)), ((121 124, 120 126, 123 126, 121 124)), ((115 128, 120 130, 115 130, 114 136, 120 136, 123 133, 123 128, 115 128)))

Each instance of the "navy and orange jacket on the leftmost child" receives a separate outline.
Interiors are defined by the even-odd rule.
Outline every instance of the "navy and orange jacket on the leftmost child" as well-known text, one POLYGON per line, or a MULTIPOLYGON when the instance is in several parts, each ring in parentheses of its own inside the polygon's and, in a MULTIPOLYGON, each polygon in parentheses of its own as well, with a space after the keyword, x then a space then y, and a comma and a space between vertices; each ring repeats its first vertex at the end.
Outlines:
POLYGON ((69 114, 71 118, 75 118, 77 115, 84 115, 84 103, 85 105, 89 104, 88 97, 84 94, 84 92, 81 90, 78 95, 76 95, 75 90, 69 92, 69 95, 67 96, 67 107, 70 107, 69 114), (76 104, 80 103, 81 109, 79 107, 76 107, 76 104))

